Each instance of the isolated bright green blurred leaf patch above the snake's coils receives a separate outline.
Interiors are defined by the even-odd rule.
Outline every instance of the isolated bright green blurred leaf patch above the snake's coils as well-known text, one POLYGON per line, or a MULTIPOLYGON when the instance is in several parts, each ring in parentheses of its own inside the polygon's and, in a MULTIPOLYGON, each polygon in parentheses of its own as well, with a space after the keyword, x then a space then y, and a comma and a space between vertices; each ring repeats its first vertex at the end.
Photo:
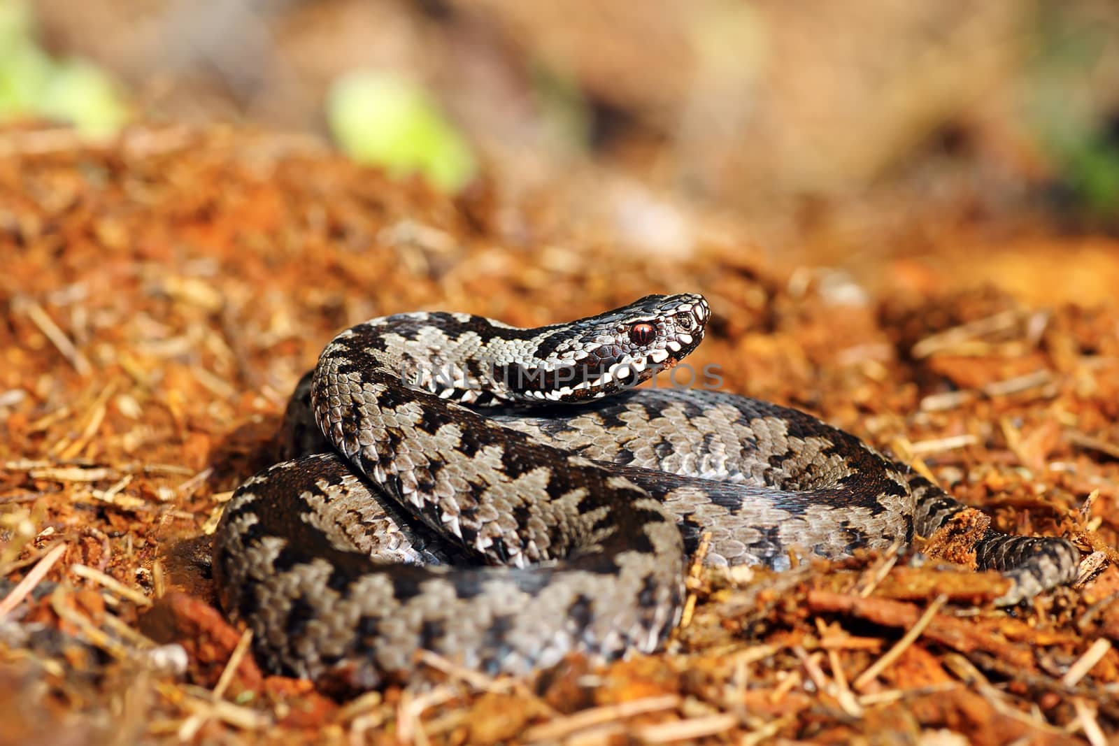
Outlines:
POLYGON ((327 122, 347 155, 394 177, 420 173, 453 192, 478 170, 470 145, 432 97, 391 73, 358 70, 339 78, 328 96, 327 122))

